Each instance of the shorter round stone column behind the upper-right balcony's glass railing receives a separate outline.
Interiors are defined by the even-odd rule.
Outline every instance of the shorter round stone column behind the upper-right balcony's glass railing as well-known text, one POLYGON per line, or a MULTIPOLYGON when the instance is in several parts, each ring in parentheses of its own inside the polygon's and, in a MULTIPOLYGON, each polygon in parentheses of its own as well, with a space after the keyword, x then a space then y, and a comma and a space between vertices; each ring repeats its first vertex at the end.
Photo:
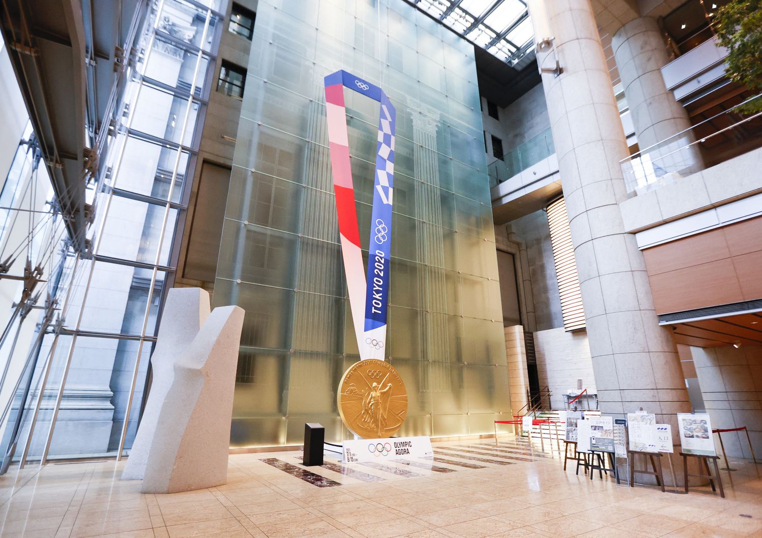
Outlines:
POLYGON ((686 176, 702 170, 699 148, 685 148, 696 139, 692 133, 670 138, 690 129, 690 119, 664 84, 661 68, 668 64, 669 57, 655 19, 642 17, 629 21, 614 34, 611 46, 638 146, 648 152, 656 173, 686 176), (659 142, 657 148, 647 150, 659 142))

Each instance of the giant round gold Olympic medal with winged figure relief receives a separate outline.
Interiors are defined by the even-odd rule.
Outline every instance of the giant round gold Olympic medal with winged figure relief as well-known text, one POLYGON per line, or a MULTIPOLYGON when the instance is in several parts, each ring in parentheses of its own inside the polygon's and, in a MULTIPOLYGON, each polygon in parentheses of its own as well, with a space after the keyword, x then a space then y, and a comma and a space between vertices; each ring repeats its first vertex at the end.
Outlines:
POLYGON ((402 377, 377 358, 356 362, 344 372, 337 403, 344 425, 366 439, 391 437, 408 413, 402 377))

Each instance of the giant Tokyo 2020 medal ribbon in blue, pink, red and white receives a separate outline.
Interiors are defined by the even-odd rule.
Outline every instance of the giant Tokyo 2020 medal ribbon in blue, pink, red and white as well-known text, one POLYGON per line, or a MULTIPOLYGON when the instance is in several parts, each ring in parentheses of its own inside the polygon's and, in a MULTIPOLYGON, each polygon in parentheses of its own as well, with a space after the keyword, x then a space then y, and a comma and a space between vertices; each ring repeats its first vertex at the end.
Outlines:
POLYGON ((378 358, 383 361, 391 269, 396 110, 381 88, 343 70, 325 77, 325 107, 341 254, 357 347, 363 360, 378 358), (344 88, 379 102, 367 279, 354 202, 344 88))

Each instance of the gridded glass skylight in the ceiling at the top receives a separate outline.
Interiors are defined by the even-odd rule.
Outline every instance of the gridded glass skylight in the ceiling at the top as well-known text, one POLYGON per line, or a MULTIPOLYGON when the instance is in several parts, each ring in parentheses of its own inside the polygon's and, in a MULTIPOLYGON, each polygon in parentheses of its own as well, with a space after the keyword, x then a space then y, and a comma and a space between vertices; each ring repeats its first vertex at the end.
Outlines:
POLYGON ((532 23, 523 0, 413 0, 413 3, 509 65, 516 65, 532 50, 532 23))

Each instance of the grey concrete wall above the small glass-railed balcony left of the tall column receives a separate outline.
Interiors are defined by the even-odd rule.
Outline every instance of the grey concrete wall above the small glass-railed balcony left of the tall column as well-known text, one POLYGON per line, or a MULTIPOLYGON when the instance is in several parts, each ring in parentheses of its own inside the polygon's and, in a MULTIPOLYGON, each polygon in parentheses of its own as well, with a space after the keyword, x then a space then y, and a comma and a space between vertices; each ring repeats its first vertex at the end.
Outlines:
POLYGON ((503 151, 511 151, 530 138, 549 129, 548 107, 543 84, 537 84, 505 108, 499 108, 495 119, 487 113, 487 100, 482 97, 482 122, 487 132, 487 162, 494 160, 490 135, 503 141, 503 151))

